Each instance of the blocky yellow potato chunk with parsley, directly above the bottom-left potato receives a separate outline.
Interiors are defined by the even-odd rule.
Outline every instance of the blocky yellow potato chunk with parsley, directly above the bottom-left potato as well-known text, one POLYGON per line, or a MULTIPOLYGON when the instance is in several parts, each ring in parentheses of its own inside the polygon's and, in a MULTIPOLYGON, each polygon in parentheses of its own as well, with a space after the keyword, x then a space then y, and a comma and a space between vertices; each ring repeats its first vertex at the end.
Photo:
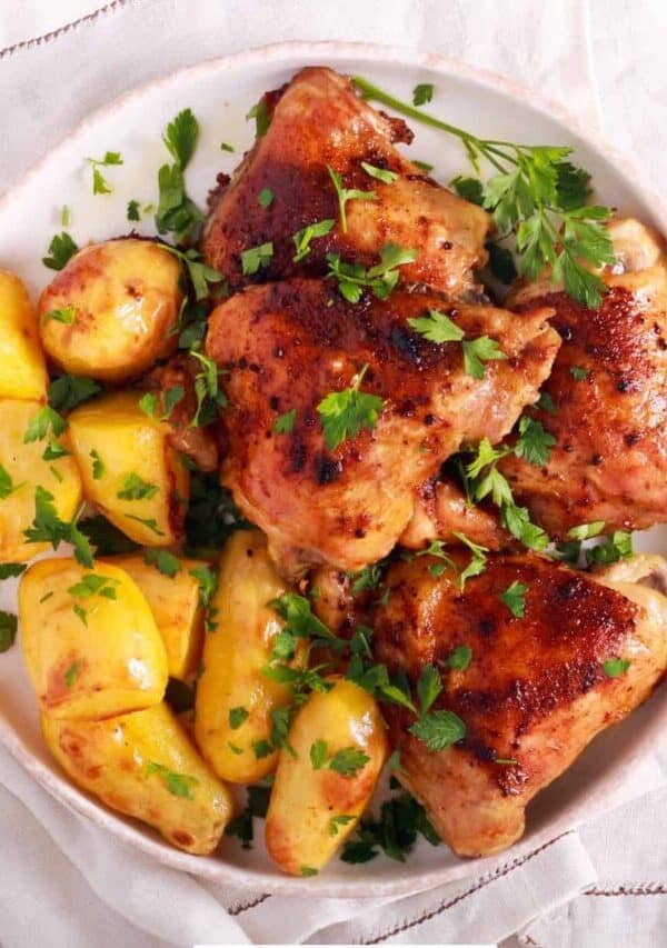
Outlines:
POLYGON ((41 709, 98 720, 159 703, 167 655, 127 572, 74 559, 33 563, 19 586, 21 647, 41 709))

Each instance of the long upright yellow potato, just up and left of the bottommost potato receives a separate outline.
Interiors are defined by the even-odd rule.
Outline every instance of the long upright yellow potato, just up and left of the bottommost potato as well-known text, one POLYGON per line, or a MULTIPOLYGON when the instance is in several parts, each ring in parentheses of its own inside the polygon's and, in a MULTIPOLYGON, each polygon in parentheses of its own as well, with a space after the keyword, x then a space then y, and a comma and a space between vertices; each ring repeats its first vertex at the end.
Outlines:
POLYGON ((289 705, 291 691, 261 669, 271 660, 283 622, 268 607, 287 587, 276 572, 259 530, 237 530, 220 558, 212 600, 218 629, 203 642, 197 685, 195 736, 216 774, 251 784, 275 769, 278 754, 256 754, 271 734, 271 711, 289 705))

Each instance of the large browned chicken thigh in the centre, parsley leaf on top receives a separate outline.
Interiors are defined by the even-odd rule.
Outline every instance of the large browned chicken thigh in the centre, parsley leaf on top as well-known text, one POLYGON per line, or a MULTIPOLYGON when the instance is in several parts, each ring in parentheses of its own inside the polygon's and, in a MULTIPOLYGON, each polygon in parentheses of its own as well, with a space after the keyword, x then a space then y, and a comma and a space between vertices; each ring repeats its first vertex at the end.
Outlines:
POLYGON ((407 323, 441 306, 432 292, 400 290, 352 306, 327 281, 289 280, 250 288, 211 315, 207 351, 228 373, 222 482, 286 576, 381 559, 440 463, 464 442, 498 441, 535 401, 559 345, 549 310, 450 308, 467 337, 501 340, 508 357, 487 362, 478 380, 464 371, 460 343, 435 345, 407 323), (328 451, 317 406, 364 367, 361 389, 384 410, 372 431, 328 451), (293 430, 275 433, 292 410, 293 430))

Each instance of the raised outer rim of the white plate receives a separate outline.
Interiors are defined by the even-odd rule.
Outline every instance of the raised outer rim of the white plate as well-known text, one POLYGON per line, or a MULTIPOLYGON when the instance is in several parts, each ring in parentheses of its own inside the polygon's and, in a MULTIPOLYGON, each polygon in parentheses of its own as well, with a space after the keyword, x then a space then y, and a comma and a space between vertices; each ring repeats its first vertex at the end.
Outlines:
MULTIPOLYGON (((610 144, 597 131, 585 128, 583 122, 573 116, 560 103, 550 100, 541 93, 527 89, 516 80, 508 79, 491 70, 470 66, 452 57, 440 56, 432 52, 412 50, 408 47, 386 46, 382 43, 368 42, 342 42, 337 40, 326 41, 300 41, 289 40, 285 42, 270 43, 252 47, 247 50, 230 53, 222 57, 210 57, 192 66, 182 67, 165 76, 137 86, 100 108, 90 112, 72 129, 66 132, 40 159, 38 159, 7 191, 0 194, 0 214, 2 214, 14 201, 21 200, 23 193, 30 188, 31 182, 52 161, 58 160, 60 152, 64 151, 72 142, 82 137, 87 131, 103 122, 106 117, 122 109, 129 102, 138 100, 147 93, 166 88, 169 84, 178 84, 182 77, 196 77, 198 73, 219 72, 243 68, 247 66, 260 67, 265 62, 271 64, 289 61, 290 58, 321 58, 325 63, 336 63, 341 59, 357 59, 369 63, 388 60, 401 67, 415 69, 431 69, 442 76, 472 81, 474 83, 489 88, 492 91, 502 91, 509 98, 527 103, 536 111, 546 114, 549 119, 564 127, 565 131, 576 133, 594 152, 604 158, 614 167, 615 172, 624 180, 628 189, 636 193, 646 204, 651 207, 654 216, 660 226, 667 229, 667 204, 655 189, 653 183, 647 182, 646 173, 640 170, 638 163, 616 146, 610 144)), ((613 772, 601 781, 601 786, 591 787, 584 792, 578 802, 580 808, 584 802, 588 806, 601 804, 608 796, 614 782, 625 782, 628 771, 637 760, 646 755, 653 740, 661 730, 661 725, 667 725, 667 703, 664 708, 656 708, 651 720, 647 722, 641 737, 636 744, 627 749, 623 759, 615 766, 613 772)), ((73 810, 93 825, 110 832, 121 842, 138 849, 143 855, 152 857, 157 861, 172 869, 187 871, 193 876, 209 881, 226 882, 238 889, 266 892, 270 895, 302 896, 306 892, 321 897, 335 898, 374 898, 397 897, 411 892, 425 890, 437 885, 451 882, 464 877, 482 876, 489 868, 496 867, 505 858, 511 865, 520 857, 539 849, 549 841, 555 841, 577 825, 575 815, 569 815, 566 807, 548 826, 532 834, 529 839, 520 840, 504 854, 492 857, 461 860, 455 866, 445 868, 428 868, 419 875, 400 879, 367 879, 367 870, 360 870, 364 878, 327 879, 319 876, 315 879, 300 879, 298 877, 283 876, 279 869, 272 871, 263 869, 249 869, 222 859, 213 861, 212 858, 201 857, 172 849, 169 845, 158 838, 157 834, 139 824, 129 821, 127 818, 108 809, 96 798, 74 787, 64 776, 52 772, 46 764, 36 757, 19 732, 12 728, 7 719, 0 716, 0 745, 2 745, 17 762, 52 797, 73 810)), ((647 755, 646 755, 647 756, 647 755)))

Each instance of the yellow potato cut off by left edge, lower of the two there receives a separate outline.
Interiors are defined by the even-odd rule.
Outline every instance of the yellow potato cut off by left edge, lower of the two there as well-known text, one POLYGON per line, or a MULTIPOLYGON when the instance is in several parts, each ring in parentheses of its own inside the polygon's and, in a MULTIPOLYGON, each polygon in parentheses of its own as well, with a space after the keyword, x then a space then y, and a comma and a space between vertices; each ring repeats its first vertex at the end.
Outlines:
POLYGON ((67 448, 67 435, 58 439, 62 447, 51 435, 24 441, 44 411, 38 401, 0 399, 0 562, 23 561, 49 549, 48 542, 28 542, 23 532, 34 520, 38 487, 48 492, 61 520, 71 520, 81 502, 73 458, 54 457, 67 448))

